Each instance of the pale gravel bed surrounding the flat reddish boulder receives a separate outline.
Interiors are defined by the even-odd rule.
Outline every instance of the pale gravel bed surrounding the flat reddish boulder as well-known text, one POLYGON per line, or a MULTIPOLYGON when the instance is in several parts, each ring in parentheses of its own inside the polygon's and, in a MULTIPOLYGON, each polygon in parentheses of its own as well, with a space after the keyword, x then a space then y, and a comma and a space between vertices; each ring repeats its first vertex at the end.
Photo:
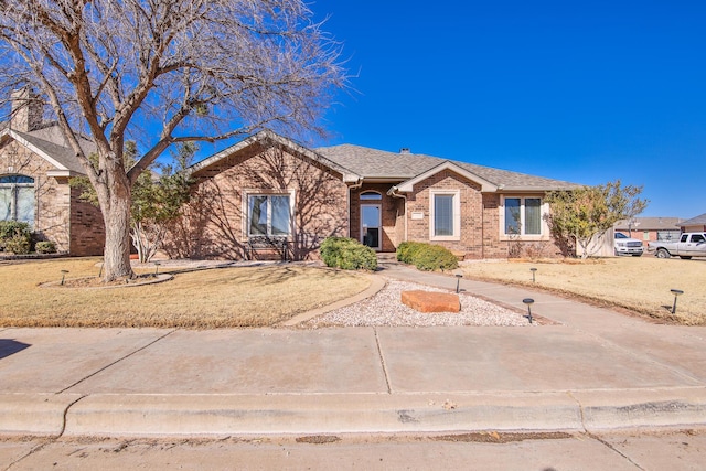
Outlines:
MULTIPOLYGON (((398 280, 387 280, 385 287, 372 298, 329 311, 302 322, 303 328, 322 327, 431 327, 431 325, 530 325, 527 319, 517 312, 492 302, 460 293, 460 312, 418 312, 402 303, 402 291, 425 290, 449 292, 448 290, 398 280)), ((535 325, 535 324, 533 324, 535 325)))

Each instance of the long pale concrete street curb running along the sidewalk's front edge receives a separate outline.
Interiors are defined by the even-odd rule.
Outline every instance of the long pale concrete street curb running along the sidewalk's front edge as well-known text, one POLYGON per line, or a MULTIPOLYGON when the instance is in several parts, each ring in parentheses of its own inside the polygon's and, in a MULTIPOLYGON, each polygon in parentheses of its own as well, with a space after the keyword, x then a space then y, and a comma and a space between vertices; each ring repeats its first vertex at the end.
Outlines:
POLYGON ((6 435, 137 437, 698 428, 706 389, 1 395, 0 424, 6 435))

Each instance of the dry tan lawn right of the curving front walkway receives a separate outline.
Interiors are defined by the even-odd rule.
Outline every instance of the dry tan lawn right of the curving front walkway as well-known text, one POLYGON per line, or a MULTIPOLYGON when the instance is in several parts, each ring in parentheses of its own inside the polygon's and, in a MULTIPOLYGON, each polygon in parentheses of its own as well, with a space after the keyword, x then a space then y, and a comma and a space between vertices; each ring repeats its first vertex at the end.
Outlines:
POLYGON ((479 261, 464 265, 463 270, 473 279, 533 286, 533 267, 537 268, 537 288, 627 308, 665 322, 706 325, 705 259, 665 260, 644 255, 586 261, 479 261), (672 288, 684 291, 675 315, 671 313, 672 288))

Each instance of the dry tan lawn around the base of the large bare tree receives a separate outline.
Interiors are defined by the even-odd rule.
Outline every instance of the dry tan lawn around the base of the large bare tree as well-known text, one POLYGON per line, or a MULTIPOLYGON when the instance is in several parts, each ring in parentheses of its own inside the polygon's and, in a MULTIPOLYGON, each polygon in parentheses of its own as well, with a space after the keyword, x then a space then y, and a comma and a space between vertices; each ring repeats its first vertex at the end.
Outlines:
POLYGON ((0 264, 0 325, 266 327, 370 285, 356 272, 291 264, 178 272, 171 281, 141 287, 40 287, 60 281, 61 270, 68 270, 67 279, 95 277, 98 261, 67 258, 0 264))

